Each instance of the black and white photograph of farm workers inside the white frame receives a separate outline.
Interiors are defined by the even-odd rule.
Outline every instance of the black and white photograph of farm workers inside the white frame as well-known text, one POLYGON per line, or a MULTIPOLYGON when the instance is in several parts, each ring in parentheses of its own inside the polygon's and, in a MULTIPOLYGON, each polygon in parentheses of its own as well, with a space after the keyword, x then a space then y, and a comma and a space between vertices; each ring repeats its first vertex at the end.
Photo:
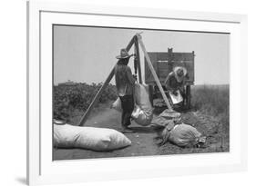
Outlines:
POLYGON ((53 161, 230 152, 230 33, 52 32, 53 161))

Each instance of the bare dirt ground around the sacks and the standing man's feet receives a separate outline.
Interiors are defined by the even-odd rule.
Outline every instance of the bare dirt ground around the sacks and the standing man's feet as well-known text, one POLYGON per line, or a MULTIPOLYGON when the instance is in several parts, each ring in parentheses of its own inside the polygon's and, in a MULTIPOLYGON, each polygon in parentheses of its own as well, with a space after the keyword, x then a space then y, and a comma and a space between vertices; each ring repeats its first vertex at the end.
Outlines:
MULTIPOLYGON (((121 114, 110 109, 108 106, 101 111, 92 114, 87 120, 85 126, 100 128, 111 128, 120 130, 121 114)), ((79 117, 75 119, 78 121, 79 117)), ((127 148, 112 152, 93 152, 84 149, 54 149, 53 160, 74 160, 88 158, 109 158, 109 157, 128 157, 128 156, 149 156, 160 154, 178 154, 191 152, 227 152, 229 151, 229 142, 223 142, 223 134, 218 132, 219 125, 214 119, 200 115, 200 113, 182 113, 182 120, 196 127, 200 132, 208 136, 207 147, 199 148, 180 148, 174 144, 166 143, 163 146, 158 145, 157 134, 149 127, 142 127, 132 122, 133 133, 126 133, 128 139, 132 142, 127 148)))

